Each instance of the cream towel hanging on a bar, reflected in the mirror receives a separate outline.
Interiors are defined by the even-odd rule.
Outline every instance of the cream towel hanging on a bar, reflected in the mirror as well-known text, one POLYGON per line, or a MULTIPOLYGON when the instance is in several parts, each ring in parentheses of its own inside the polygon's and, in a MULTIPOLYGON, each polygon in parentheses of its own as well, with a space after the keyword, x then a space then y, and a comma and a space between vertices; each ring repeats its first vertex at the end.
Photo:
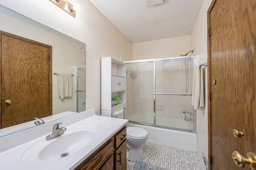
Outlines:
POLYGON ((72 96, 72 75, 59 74, 58 75, 58 93, 60 99, 72 96))

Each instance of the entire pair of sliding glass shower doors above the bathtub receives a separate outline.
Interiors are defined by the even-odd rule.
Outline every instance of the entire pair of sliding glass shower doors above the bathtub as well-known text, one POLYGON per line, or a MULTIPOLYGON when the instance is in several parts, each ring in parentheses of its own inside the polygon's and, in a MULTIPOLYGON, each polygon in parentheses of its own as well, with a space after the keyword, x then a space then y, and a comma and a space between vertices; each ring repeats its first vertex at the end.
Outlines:
POLYGON ((126 119, 139 124, 196 132, 191 104, 196 59, 128 61, 126 119))

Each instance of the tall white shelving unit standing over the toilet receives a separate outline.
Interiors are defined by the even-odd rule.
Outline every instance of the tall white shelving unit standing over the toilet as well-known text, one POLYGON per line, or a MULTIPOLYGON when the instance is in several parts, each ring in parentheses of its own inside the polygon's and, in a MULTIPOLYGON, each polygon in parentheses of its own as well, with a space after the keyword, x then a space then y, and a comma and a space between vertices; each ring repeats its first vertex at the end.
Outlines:
POLYGON ((126 64, 111 57, 101 58, 101 115, 124 109, 126 114, 126 64), (122 103, 111 107, 111 100, 118 96, 122 103))

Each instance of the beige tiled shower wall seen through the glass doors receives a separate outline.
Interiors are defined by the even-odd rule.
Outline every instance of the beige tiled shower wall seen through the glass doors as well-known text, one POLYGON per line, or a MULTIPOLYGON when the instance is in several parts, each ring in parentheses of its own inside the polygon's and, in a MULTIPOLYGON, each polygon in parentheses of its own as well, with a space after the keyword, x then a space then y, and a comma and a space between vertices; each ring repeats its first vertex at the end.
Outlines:
MULTIPOLYGON (((156 62, 156 93, 192 94, 193 59, 186 60, 186 64, 188 65, 187 93, 184 60, 156 62)), ((154 123, 154 64, 127 64, 127 69, 126 118, 129 120, 136 118, 131 121, 154 123), (138 120, 138 115, 144 119, 138 120)), ((182 121, 182 112, 188 110, 193 110, 191 96, 156 95, 156 123, 161 119, 182 121)))

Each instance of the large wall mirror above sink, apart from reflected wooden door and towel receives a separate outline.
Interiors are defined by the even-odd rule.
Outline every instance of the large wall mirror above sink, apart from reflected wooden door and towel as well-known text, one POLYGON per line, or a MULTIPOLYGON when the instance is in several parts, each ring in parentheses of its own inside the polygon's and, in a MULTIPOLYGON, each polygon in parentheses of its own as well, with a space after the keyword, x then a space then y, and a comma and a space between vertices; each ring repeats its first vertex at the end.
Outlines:
MULTIPOLYGON (((85 44, 3 6, 0 6, 0 23, 0 30, 3 32, 51 45, 52 73, 73 74, 72 97, 66 97, 64 99, 60 99, 58 96, 58 75, 52 74, 52 116, 45 118, 45 122, 48 123, 84 111, 86 84, 85 44), (84 72, 80 71, 78 73, 78 69, 84 72), (81 79, 78 81, 79 77, 82 81, 81 79), (78 82, 82 82, 82 84, 79 84, 79 90, 77 90, 78 82), (78 91, 81 92, 79 96, 78 91)), ((35 101, 33 104, 40 105, 40 101, 35 101)), ((28 123, 2 128, 0 129, 0 137, 35 127, 35 121, 30 120, 28 123), (1 132, 4 133, 1 135, 1 132)))

